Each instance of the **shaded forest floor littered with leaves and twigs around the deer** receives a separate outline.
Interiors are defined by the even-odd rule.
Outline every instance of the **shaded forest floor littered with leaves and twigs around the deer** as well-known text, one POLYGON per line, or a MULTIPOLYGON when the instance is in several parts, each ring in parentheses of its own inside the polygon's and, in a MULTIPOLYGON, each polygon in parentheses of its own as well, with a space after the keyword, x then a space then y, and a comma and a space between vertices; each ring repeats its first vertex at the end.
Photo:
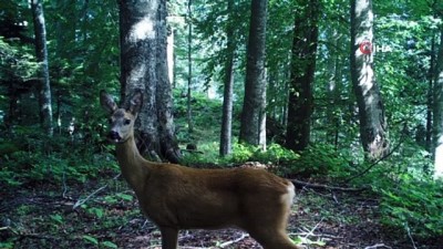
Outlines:
MULTIPOLYGON (((159 231, 112 174, 62 186, 0 183, 0 248, 161 248, 159 231)), ((383 227, 378 199, 362 193, 298 189, 288 231, 306 248, 443 248, 383 227)), ((181 231, 178 243, 182 249, 261 248, 234 229, 181 231)))

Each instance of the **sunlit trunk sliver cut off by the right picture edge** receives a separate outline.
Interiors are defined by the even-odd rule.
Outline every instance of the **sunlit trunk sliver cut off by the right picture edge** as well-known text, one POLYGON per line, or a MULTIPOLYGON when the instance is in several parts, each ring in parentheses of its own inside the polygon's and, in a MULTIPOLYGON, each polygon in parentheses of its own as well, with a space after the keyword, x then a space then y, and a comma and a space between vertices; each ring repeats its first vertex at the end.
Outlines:
POLYGON ((443 25, 436 58, 433 102, 434 178, 443 177, 443 25))

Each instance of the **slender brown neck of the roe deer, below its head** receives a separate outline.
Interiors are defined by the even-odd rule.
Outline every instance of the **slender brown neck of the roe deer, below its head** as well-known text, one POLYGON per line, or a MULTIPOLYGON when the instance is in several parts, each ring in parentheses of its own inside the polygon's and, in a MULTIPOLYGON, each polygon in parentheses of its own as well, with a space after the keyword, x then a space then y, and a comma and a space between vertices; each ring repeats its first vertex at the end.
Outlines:
POLYGON ((146 162, 135 145, 134 136, 116 145, 116 155, 122 175, 135 193, 138 193, 148 175, 146 162))

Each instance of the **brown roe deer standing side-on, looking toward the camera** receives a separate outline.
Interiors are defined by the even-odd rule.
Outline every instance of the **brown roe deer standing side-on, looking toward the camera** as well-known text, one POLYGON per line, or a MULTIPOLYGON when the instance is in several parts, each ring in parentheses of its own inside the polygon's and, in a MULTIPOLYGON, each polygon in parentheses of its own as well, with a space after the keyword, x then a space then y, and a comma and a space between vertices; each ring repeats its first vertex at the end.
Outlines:
POLYGON ((162 248, 176 249, 179 229, 243 229, 265 249, 296 249, 286 227, 295 196, 292 183, 265 169, 195 169, 144 159, 135 146, 134 122, 142 106, 136 91, 119 108, 104 91, 111 114, 109 138, 116 144, 122 175, 143 214, 161 230, 162 248))

